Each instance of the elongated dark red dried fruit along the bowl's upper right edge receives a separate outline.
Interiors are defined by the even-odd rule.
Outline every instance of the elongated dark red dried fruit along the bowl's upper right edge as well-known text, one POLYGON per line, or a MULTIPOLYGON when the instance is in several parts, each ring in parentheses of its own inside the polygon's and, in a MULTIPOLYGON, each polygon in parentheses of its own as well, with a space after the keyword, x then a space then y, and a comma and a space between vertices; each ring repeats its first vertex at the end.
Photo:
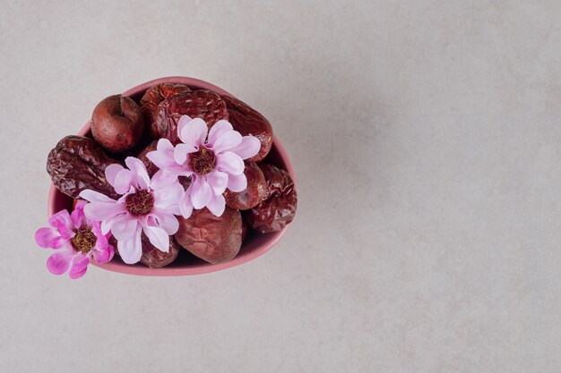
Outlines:
POLYGON ((259 162, 267 157, 272 147, 272 127, 253 107, 234 97, 221 96, 228 107, 229 123, 242 136, 254 135, 261 142, 259 153, 248 160, 259 162))

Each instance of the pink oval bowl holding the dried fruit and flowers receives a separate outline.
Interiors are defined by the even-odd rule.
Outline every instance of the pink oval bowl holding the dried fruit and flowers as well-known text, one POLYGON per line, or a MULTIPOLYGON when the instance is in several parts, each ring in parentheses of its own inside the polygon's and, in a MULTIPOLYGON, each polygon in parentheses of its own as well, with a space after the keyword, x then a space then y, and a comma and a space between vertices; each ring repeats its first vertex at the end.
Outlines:
MULTIPOLYGON (((139 86, 132 89, 128 89, 123 92, 123 95, 132 97, 135 101, 139 101, 142 94, 146 89, 151 87, 151 85, 156 83, 181 83, 193 89, 210 89, 214 92, 220 93, 220 95, 229 95, 234 97, 229 92, 221 89, 211 83, 206 81, 200 81, 194 78, 186 78, 180 76, 172 76, 168 78, 160 78, 154 81, 147 81, 139 86)), ((274 131, 274 127, 273 127, 274 131)), ((79 135, 91 136, 90 122, 86 123, 79 135)), ((272 137, 272 149, 271 153, 264 160, 272 165, 277 165, 280 168, 287 170, 295 181, 294 170, 292 165, 290 165, 289 156, 287 155, 284 148, 280 144, 279 139, 275 136, 272 137)), ((73 199, 66 196, 65 194, 58 191, 55 185, 51 184, 50 191, 48 192, 48 216, 52 216, 57 211, 63 208, 71 209, 73 199)), ((181 250, 179 257, 176 261, 170 264, 168 267, 163 268, 149 268, 145 267, 141 263, 137 263, 133 266, 127 265, 121 261, 117 256, 110 262, 104 264, 93 263, 97 267, 108 269, 109 271, 121 272, 129 275, 140 275, 140 276, 186 276, 186 275, 200 275, 208 272, 219 271, 220 269, 226 269, 229 267, 235 267, 251 259, 255 259, 267 250, 270 250, 275 243, 279 242, 280 237, 285 233, 286 228, 280 232, 259 234, 255 231, 251 231, 247 235, 246 241, 242 244, 237 257, 221 264, 210 264, 202 259, 195 258, 187 250, 181 250)))

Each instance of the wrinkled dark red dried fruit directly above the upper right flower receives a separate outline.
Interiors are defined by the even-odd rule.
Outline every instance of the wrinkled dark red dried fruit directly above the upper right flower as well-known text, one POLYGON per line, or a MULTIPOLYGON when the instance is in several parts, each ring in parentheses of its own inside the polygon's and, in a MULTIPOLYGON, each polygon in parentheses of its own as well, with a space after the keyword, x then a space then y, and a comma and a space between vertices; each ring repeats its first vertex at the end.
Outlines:
POLYGON ((229 118, 226 104, 218 94, 206 89, 192 90, 169 97, 160 103, 156 117, 159 136, 170 140, 174 145, 177 144, 177 123, 183 115, 203 118, 209 128, 220 119, 229 118))

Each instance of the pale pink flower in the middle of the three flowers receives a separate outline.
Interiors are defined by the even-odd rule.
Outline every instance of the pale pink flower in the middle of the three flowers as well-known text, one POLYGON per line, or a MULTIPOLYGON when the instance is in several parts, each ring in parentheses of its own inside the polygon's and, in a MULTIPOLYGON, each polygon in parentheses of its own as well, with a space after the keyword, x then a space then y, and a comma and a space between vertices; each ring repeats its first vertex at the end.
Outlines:
POLYGON ((163 183, 161 178, 150 179, 142 161, 127 157, 125 165, 109 165, 105 170, 108 182, 123 196, 110 199, 91 190, 80 193, 91 203, 84 213, 92 220, 101 222, 101 232, 109 231, 117 239, 121 259, 134 264, 141 259, 141 234, 146 234, 151 244, 168 252, 169 235, 177 232, 179 223, 178 201, 184 190, 179 182, 163 183), (175 215, 174 215, 175 214, 175 215))

